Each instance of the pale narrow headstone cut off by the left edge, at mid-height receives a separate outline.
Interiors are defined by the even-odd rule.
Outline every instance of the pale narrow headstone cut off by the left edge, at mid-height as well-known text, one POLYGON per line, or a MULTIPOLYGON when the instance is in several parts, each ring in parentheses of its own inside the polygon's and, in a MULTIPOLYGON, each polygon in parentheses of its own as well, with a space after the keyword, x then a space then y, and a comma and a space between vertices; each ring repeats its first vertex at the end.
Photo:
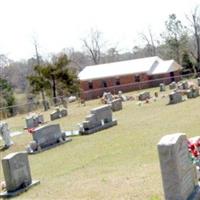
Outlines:
POLYGON ((10 130, 6 122, 0 122, 0 135, 4 141, 4 148, 9 148, 13 141, 11 140, 10 130))

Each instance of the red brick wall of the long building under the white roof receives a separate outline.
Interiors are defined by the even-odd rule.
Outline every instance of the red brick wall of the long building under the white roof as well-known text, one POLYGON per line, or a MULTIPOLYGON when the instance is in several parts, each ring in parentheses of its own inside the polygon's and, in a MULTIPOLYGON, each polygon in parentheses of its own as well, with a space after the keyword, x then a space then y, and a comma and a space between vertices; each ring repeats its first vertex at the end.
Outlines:
MULTIPOLYGON (((180 72, 174 72, 174 76, 179 76, 180 72)), ((160 83, 169 84, 172 82, 170 73, 167 74, 161 74, 161 75, 154 75, 154 76, 148 76, 145 73, 139 74, 140 76, 140 82, 135 82, 135 75, 125 75, 120 77, 110 77, 110 78, 104 78, 104 79, 98 79, 93 80, 93 89, 89 89, 88 87, 88 81, 81 81, 80 87, 81 87, 81 98, 83 99, 94 99, 101 97, 104 92, 111 92, 112 94, 117 94, 118 91, 122 92, 128 92, 138 89, 144 89, 149 87, 155 87, 158 86, 160 83), (116 79, 119 78, 120 85, 116 85, 116 79), (163 80, 163 78, 165 78, 163 80), (156 80, 155 79, 161 79, 156 80), (107 87, 103 87, 102 81, 106 81, 107 87)), ((175 77, 175 81, 179 81, 180 78, 175 77)))

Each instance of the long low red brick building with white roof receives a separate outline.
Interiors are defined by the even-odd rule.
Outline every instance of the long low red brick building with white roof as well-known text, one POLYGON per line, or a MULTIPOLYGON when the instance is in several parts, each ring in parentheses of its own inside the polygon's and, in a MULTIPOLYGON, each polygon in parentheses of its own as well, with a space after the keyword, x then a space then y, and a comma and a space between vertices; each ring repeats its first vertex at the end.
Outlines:
POLYGON ((182 67, 174 60, 147 57, 86 66, 78 75, 81 97, 94 99, 104 92, 117 94, 180 80, 182 67))

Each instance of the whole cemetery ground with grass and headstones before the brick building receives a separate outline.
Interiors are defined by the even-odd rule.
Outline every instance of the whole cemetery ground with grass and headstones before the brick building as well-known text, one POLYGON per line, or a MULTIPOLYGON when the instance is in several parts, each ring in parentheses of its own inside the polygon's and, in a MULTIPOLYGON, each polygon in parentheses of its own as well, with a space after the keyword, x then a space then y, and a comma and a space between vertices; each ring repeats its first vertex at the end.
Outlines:
MULTIPOLYGON (((180 90, 178 83, 174 89, 180 90)), ((179 102, 188 95, 187 100, 167 106, 169 95, 176 94, 174 89, 165 85, 165 91, 156 87, 125 93, 134 100, 123 101, 123 109, 118 112, 112 112, 109 103, 102 105, 101 99, 86 101, 85 106, 73 102, 67 108, 67 118, 39 124, 33 134, 24 130, 27 115, 5 119, 10 131, 23 130, 23 134, 11 137, 13 144, 0 151, 1 195, 13 194, 9 182, 15 177, 19 179, 14 185, 14 191, 19 192, 15 199, 58 199, 59 194, 61 199, 198 200, 200 98, 197 89, 188 92, 189 86, 181 88, 184 95, 177 92, 180 96, 173 101, 179 102), (151 97, 155 93, 157 101, 151 97), (140 94, 149 95, 150 103, 138 106, 140 94), (117 126, 102 128, 110 122, 117 126), (62 130, 77 129, 82 131, 81 135, 59 145, 66 137, 62 130), (97 130, 98 134, 89 134, 97 130), (55 144, 59 146, 50 148, 55 144), (4 170, 24 150, 43 152, 28 155, 29 165, 25 164, 27 159, 23 162, 26 167, 15 163, 11 171, 4 170), (40 184, 27 190, 39 183, 34 180, 40 184)), ((41 112, 44 121, 52 112, 41 112)), ((5 141, 0 139, 0 146, 5 141)), ((24 152, 22 157, 26 157, 24 154, 27 155, 24 152)))

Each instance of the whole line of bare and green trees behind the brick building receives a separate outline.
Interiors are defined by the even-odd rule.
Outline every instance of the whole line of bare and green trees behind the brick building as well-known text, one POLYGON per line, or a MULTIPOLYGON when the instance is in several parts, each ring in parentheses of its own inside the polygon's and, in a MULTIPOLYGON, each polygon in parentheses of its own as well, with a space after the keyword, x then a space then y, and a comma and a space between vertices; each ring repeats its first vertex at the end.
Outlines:
MULTIPOLYGON (((91 30, 88 36, 82 39, 82 51, 65 48, 48 60, 39 55, 38 45, 34 43, 36 53, 30 59, 14 62, 5 55, 0 55, 0 78, 7 80, 8 85, 15 91, 41 93, 45 102, 45 95, 56 101, 58 95, 78 93, 77 74, 87 65, 159 56, 162 59, 174 59, 181 64, 184 74, 196 73, 200 71, 198 6, 190 15, 186 15, 186 21, 188 23, 184 25, 176 14, 170 14, 165 21, 165 30, 159 33, 159 38, 155 37, 154 31, 149 28, 146 33, 138 35, 144 44, 142 47, 133 46, 131 51, 123 53, 117 45, 106 47, 103 33, 99 30, 91 30)), ((3 98, 2 95, 0 98, 3 98)))

